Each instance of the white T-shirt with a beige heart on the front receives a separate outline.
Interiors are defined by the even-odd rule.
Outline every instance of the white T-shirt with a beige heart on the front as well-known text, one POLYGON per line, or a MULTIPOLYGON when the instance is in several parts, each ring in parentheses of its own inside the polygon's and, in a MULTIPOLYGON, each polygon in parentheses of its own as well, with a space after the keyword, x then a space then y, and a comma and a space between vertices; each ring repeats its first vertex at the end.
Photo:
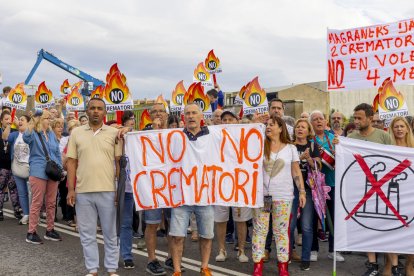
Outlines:
POLYGON ((293 199, 292 162, 299 162, 294 145, 288 144, 279 153, 270 153, 270 160, 265 160, 263 166, 264 195, 271 195, 273 200, 293 199))

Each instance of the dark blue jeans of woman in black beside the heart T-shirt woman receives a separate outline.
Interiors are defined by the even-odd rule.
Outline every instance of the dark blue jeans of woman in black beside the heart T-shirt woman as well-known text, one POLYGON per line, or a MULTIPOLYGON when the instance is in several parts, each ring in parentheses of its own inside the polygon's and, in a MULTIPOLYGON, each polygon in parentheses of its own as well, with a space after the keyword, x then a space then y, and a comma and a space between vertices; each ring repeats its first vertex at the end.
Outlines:
MULTIPOLYGON (((295 229, 298 217, 299 207, 299 191, 295 185, 295 198, 292 204, 292 217, 290 224, 290 247, 293 248, 295 243, 295 229)), ((310 252, 313 240, 313 215, 314 205, 312 200, 312 192, 306 191, 306 204, 301 210, 300 221, 302 223, 302 261, 310 261, 310 252)))

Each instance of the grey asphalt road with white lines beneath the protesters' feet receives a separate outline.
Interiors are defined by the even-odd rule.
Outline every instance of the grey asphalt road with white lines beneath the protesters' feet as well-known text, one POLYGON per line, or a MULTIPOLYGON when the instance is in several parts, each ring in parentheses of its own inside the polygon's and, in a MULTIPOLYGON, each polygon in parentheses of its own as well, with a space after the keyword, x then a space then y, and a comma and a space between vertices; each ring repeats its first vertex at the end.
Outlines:
MULTIPOLYGON (((56 223, 56 230, 62 235, 62 242, 45 241, 43 245, 32 245, 25 242, 27 225, 18 225, 18 221, 13 217, 13 213, 8 209, 7 203, 4 209, 5 220, 0 222, 0 275, 85 275, 87 271, 84 267, 82 247, 79 235, 73 228, 56 223)), ((58 218, 60 216, 58 215, 58 218)), ((38 233, 43 237, 45 225, 40 224, 38 233)), ((103 267, 103 237, 97 235, 101 266, 103 267)), ((118 273, 120 275, 149 275, 145 272, 147 255, 145 250, 136 249, 134 239, 134 262, 135 269, 125 270, 120 263, 118 273)), ((299 263, 293 262, 289 266, 291 275, 332 275, 332 260, 327 258, 327 243, 320 243, 321 251, 318 262, 311 263, 309 271, 301 271, 299 263)), ((274 245, 273 245, 274 247, 274 245)), ((165 238, 158 239, 157 257, 164 261, 167 255, 167 242, 165 238)), ((300 251, 300 247, 299 247, 300 251)), ((264 275, 277 275, 277 264, 275 261, 275 250, 273 249, 271 260, 265 264, 264 275)), ((253 263, 251 261, 251 248, 246 249, 249 256, 249 263, 239 263, 236 259, 237 252, 233 251, 233 245, 227 245, 229 258, 224 263, 215 262, 217 254, 217 244, 213 244, 213 252, 210 259, 210 268, 214 275, 251 275, 253 263)), ((197 242, 191 242, 188 238, 185 244, 184 263, 186 267, 185 275, 199 275, 200 254, 197 242)), ((361 254, 351 254, 345 256, 343 263, 337 264, 337 275, 362 275, 366 258, 361 254)), ((100 275, 106 275, 103 268, 99 271, 100 275)), ((172 273, 168 273, 171 275, 172 273)))

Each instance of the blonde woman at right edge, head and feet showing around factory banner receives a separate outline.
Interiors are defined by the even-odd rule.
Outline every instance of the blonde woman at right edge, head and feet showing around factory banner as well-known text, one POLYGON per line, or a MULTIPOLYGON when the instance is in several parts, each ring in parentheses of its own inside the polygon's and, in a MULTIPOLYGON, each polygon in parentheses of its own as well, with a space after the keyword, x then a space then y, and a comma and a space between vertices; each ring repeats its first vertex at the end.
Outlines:
MULTIPOLYGON (((391 141, 393 145, 414 148, 414 135, 410 128, 410 125, 408 124, 405 118, 395 117, 391 122, 388 132, 391 136, 391 141)), ((400 275, 398 274, 401 273, 398 268, 398 254, 389 253, 388 262, 391 262, 392 275, 400 275)), ((406 275, 414 275, 413 264, 414 255, 407 256, 405 263, 406 275)), ((384 268, 384 272, 386 270, 386 267, 384 268)))

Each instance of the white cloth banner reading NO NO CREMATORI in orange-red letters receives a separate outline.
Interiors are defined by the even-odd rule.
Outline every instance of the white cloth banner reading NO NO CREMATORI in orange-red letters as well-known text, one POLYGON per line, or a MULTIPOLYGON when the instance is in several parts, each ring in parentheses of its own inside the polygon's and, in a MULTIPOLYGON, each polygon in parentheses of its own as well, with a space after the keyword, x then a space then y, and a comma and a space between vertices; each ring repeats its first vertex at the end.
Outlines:
POLYGON ((180 205, 263 206, 264 125, 128 133, 125 151, 138 210, 180 205))

